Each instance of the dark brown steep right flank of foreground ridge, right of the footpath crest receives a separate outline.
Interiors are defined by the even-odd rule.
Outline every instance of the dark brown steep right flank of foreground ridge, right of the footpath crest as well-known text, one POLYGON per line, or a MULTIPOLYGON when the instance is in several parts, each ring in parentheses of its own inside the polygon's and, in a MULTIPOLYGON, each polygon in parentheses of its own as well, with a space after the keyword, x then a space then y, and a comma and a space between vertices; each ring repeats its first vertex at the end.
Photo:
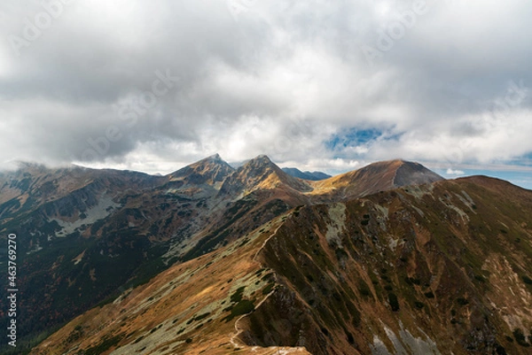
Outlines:
POLYGON ((532 191, 481 177, 305 207, 261 253, 294 296, 253 313, 247 343, 321 332, 313 354, 528 353, 531 212, 532 191))

